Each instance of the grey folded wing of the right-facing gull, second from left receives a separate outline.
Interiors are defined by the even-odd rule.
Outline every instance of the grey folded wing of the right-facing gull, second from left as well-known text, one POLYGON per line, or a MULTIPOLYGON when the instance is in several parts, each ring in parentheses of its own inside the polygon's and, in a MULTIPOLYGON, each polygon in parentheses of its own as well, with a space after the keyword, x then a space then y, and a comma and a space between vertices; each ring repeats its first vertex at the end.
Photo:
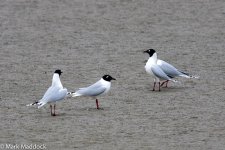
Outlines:
POLYGON ((85 96, 98 96, 104 93, 105 90, 106 88, 101 85, 101 82, 96 82, 95 84, 89 87, 80 88, 78 91, 76 91, 76 93, 79 93, 85 96))

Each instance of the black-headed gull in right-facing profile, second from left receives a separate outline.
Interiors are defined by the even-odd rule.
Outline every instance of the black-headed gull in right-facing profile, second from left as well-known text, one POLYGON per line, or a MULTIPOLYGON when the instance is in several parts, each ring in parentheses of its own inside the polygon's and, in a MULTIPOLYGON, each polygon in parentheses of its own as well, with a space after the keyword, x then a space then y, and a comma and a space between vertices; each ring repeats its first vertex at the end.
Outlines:
POLYGON ((110 75, 104 75, 99 81, 96 83, 85 87, 79 88, 75 93, 72 93, 72 97, 77 96, 89 96, 96 99, 96 107, 99 109, 99 103, 97 96, 107 93, 111 87, 111 80, 116 80, 115 78, 111 77, 110 75))

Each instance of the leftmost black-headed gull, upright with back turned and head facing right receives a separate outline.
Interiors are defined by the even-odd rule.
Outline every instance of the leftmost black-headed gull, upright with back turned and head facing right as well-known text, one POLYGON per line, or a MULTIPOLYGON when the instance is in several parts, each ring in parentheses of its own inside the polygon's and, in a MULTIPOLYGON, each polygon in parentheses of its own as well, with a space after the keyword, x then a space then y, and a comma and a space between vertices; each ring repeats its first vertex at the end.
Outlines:
POLYGON ((62 83, 60 81, 60 75, 63 72, 61 70, 55 70, 53 77, 52 77, 52 85, 48 88, 45 92, 42 99, 36 101, 34 103, 28 104, 27 106, 38 105, 38 108, 41 108, 47 103, 50 103, 51 115, 56 116, 55 108, 56 108, 56 101, 63 100, 69 92, 66 88, 63 88, 62 83), (52 112, 52 103, 54 103, 54 112, 52 112))

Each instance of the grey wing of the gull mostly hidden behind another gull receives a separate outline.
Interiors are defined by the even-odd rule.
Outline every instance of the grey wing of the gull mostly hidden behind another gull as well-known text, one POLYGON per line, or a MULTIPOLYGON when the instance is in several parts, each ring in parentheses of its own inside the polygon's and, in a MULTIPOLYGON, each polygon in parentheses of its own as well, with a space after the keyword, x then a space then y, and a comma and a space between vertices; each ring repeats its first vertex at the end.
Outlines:
POLYGON ((165 72, 165 74, 170 77, 176 77, 176 76, 180 76, 183 74, 177 68, 175 68, 174 66, 172 66, 171 64, 169 64, 163 60, 158 60, 157 64, 163 70, 163 72, 165 72))

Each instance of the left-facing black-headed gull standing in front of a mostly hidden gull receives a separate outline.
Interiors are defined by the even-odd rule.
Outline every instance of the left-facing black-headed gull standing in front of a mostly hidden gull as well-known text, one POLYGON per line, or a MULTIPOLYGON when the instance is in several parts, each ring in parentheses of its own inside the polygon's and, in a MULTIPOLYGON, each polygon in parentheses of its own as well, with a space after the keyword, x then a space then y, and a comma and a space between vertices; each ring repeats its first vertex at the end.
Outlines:
POLYGON ((144 53, 149 54, 149 59, 145 65, 145 70, 147 73, 149 73, 154 77, 153 91, 155 91, 156 82, 158 82, 159 84, 159 91, 160 91, 160 80, 177 82, 176 80, 173 80, 170 76, 168 76, 157 64, 157 53, 155 52, 154 49, 146 50, 144 51, 144 53))

